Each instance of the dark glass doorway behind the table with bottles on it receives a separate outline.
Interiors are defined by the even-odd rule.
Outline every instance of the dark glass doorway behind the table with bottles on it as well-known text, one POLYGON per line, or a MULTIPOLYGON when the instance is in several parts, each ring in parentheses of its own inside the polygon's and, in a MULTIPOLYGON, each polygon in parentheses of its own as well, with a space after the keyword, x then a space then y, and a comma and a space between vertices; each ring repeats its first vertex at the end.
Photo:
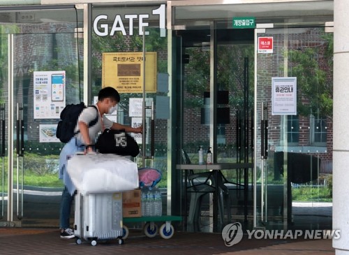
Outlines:
MULTIPOLYGON (((194 183, 193 173, 205 175, 210 170, 208 150, 214 154, 214 163, 230 166, 217 173, 222 180, 222 209, 214 215, 212 194, 201 192, 200 196, 200 191, 195 194, 197 190, 189 187, 182 199, 183 214, 188 230, 221 231, 233 221, 248 221, 251 215, 253 29, 228 29, 225 22, 211 22, 202 27, 188 25, 176 33, 182 57, 177 85, 179 159, 184 164, 198 164, 198 150, 204 150, 202 168, 186 170, 187 184, 194 183), (198 197, 200 213, 194 214, 190 208, 199 204, 198 197)), ((185 183, 183 187, 185 190, 185 183)))

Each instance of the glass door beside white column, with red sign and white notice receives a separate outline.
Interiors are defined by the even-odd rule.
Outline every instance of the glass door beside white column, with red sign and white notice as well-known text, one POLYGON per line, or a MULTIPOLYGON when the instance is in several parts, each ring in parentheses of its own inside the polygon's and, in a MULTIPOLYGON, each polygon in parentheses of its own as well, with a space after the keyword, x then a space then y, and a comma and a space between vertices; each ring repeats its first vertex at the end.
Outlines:
POLYGON ((324 27, 255 29, 255 227, 331 227, 332 45, 324 27))

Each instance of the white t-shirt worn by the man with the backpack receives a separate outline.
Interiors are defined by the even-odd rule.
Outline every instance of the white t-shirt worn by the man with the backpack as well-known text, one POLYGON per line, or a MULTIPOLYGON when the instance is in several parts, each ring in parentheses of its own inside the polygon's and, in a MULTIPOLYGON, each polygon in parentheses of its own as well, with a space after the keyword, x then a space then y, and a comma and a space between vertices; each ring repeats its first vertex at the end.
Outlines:
MULTIPOLYGON (((98 109, 98 106, 97 105, 95 106, 98 109)), ((103 131, 103 127, 104 129, 110 129, 113 124, 113 122, 110 121, 110 119, 107 119, 107 117, 103 117, 102 119, 101 114, 99 113, 99 110, 97 112, 96 108, 94 107, 85 108, 84 110, 82 110, 79 118, 77 119, 77 122, 84 122, 87 125, 89 125, 89 123, 93 122, 94 119, 96 119, 96 115, 98 115, 98 122, 94 126, 89 127, 89 137, 91 139, 91 144, 94 144, 96 142, 98 133, 103 131), (103 122, 103 126, 102 126, 102 122, 103 122)), ((78 130, 78 126, 75 127, 75 132, 77 130, 78 130)), ((82 135, 80 132, 77 133, 76 137, 77 139, 83 142, 82 135)))

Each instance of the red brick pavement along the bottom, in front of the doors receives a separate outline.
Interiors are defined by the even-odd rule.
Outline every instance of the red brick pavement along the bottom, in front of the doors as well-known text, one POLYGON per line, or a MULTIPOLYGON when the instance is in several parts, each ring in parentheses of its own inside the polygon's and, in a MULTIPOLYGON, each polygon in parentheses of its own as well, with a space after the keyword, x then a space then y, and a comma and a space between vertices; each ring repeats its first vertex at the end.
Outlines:
POLYGON ((208 254, 317 254, 332 255, 332 240, 248 240, 226 247, 220 234, 176 232, 171 239, 147 238, 140 231, 131 231, 124 245, 117 240, 75 244, 75 239, 62 240, 57 229, 0 228, 0 254, 137 254, 137 255, 208 255, 208 254))

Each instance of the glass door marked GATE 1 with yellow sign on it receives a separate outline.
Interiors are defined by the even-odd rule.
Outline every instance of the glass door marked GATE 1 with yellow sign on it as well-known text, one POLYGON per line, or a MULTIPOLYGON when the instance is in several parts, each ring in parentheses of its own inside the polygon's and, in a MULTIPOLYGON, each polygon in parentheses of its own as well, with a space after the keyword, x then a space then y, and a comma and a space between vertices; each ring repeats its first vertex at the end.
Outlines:
POLYGON ((166 214, 170 210, 167 201, 171 201, 171 192, 167 191, 171 187, 172 162, 168 71, 172 34, 165 29, 165 4, 97 5, 92 8, 92 17, 96 25, 91 34, 91 96, 96 96, 102 87, 114 87, 121 101, 109 117, 120 124, 143 126, 143 134, 131 134, 140 146, 140 154, 134 160, 138 168, 161 172, 156 187, 161 191, 162 212, 166 214), (100 18, 107 13, 112 15, 105 20, 100 18), (119 25, 123 29, 115 29, 114 20, 108 20, 116 17, 122 20, 119 25), (107 35, 101 33, 103 23, 110 24, 107 35))

